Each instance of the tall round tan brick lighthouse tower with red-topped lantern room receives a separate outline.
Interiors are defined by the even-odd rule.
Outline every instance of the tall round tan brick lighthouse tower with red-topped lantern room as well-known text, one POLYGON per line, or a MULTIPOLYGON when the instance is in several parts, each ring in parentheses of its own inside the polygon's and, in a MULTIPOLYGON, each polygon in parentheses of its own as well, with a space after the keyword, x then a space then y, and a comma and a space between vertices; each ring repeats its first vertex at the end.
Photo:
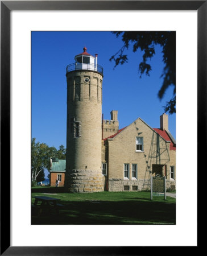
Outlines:
POLYGON ((101 115, 103 68, 84 51, 67 66, 65 191, 103 191, 101 115))

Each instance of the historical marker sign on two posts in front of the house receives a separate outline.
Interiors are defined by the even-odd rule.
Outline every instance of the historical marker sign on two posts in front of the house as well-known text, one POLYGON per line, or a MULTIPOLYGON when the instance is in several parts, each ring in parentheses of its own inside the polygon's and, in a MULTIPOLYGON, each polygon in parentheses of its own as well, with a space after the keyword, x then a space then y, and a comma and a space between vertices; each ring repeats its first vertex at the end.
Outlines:
POLYGON ((152 196, 160 196, 160 193, 164 193, 164 199, 166 200, 165 177, 160 177, 157 174, 156 176, 151 176, 151 200, 152 196))

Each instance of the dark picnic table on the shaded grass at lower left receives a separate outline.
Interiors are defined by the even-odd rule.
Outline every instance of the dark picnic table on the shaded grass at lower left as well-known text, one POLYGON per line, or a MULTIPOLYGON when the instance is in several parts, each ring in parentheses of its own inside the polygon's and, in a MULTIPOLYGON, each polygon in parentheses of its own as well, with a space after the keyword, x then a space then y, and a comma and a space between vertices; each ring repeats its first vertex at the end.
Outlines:
POLYGON ((48 197, 48 196, 32 196, 35 198, 35 203, 32 207, 38 209, 38 216, 42 213, 43 209, 53 210, 55 209, 56 214, 59 214, 59 208, 63 207, 59 204, 60 199, 48 197))

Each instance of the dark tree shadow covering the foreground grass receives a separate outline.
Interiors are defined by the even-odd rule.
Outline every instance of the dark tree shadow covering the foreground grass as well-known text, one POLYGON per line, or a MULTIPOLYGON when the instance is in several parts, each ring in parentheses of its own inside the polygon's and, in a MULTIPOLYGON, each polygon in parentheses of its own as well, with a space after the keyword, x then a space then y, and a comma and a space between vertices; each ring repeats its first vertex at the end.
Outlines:
POLYGON ((59 216, 32 216, 35 225, 175 224, 175 203, 161 201, 62 201, 59 216))

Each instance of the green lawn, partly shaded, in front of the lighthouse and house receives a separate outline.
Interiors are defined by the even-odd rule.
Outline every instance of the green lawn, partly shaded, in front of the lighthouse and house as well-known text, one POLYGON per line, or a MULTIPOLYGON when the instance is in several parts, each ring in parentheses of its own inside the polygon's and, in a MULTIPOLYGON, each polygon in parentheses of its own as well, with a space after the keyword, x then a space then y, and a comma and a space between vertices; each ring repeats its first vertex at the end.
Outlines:
POLYGON ((65 193, 63 188, 34 187, 32 196, 55 197, 64 205, 59 216, 43 212, 32 216, 32 224, 175 224, 176 200, 154 196, 151 201, 150 192, 65 193))

